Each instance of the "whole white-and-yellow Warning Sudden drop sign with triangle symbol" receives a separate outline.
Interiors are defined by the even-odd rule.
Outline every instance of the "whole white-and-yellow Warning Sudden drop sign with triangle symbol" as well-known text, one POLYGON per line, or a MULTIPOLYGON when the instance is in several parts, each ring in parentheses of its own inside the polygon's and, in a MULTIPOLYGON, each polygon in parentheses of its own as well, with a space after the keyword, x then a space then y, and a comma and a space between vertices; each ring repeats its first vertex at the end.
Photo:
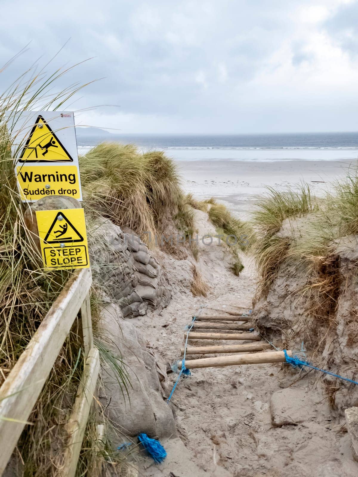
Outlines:
POLYGON ((30 111, 8 122, 23 202, 55 195, 82 200, 74 114, 30 111))

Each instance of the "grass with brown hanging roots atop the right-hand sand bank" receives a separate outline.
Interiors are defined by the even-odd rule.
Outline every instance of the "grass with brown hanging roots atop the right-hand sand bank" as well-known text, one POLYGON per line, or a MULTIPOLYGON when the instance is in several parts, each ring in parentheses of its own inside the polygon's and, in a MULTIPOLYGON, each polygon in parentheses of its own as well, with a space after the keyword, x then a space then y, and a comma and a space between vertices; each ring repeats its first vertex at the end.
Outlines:
POLYGON ((259 202, 255 226, 259 236, 254 248, 259 295, 267 293, 283 263, 293 263, 307 271, 307 283, 296 291, 306 299, 307 313, 315 321, 333 323, 343 280, 337 244, 358 233, 357 171, 351 169, 347 180, 319 200, 305 185, 298 192, 270 189, 269 196, 259 202), (287 218, 295 218, 292 232, 287 222, 285 231, 280 230, 287 218))

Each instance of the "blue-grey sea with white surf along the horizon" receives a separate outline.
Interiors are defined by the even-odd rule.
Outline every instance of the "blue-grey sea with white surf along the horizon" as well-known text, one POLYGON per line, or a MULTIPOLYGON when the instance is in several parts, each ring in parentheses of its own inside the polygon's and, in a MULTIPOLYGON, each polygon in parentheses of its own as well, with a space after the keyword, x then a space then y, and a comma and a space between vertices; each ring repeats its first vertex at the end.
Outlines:
POLYGON ((160 149, 180 160, 354 160, 358 158, 358 132, 252 135, 85 135, 77 130, 80 154, 111 141, 135 144, 140 150, 160 149))

